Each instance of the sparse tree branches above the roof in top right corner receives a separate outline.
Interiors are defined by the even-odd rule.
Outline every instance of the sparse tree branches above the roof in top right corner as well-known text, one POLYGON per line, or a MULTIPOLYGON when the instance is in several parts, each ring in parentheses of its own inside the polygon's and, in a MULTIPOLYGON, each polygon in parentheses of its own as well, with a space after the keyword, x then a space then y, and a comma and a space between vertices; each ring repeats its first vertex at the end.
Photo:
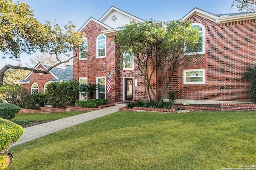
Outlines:
POLYGON ((256 12, 256 0, 233 0, 231 8, 237 8, 239 12, 256 12))

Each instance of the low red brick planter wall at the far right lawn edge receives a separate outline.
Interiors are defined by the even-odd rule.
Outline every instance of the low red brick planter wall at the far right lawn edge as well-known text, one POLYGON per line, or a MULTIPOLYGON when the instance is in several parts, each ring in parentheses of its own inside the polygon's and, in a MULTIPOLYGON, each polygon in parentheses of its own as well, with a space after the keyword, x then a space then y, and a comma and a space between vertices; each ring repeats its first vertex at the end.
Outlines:
POLYGON ((256 111, 256 104, 220 104, 221 111, 256 111))

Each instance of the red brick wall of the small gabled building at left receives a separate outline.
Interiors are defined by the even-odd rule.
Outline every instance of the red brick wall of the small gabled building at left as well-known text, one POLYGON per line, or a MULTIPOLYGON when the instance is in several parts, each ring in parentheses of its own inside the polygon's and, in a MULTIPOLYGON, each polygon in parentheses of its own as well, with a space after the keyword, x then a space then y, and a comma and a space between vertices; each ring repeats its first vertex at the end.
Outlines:
MULTIPOLYGON (((37 70, 39 70, 40 68, 42 68, 44 71, 46 71, 46 69, 42 65, 39 65, 37 70)), ((46 82, 52 80, 52 78, 54 78, 54 76, 51 73, 40 75, 39 73, 33 72, 28 78, 30 79, 30 84, 21 84, 21 86, 28 89, 28 94, 31 94, 31 86, 33 83, 38 84, 38 92, 42 93, 42 92, 44 92, 44 84, 46 82)))

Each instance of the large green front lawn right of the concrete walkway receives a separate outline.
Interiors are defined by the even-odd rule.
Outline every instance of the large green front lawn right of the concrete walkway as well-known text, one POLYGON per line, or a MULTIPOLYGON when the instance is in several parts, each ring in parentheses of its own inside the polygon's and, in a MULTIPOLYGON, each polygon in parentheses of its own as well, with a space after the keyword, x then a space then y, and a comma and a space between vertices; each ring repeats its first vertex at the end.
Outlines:
POLYGON ((11 148, 9 170, 221 170, 256 163, 256 112, 117 112, 11 148))

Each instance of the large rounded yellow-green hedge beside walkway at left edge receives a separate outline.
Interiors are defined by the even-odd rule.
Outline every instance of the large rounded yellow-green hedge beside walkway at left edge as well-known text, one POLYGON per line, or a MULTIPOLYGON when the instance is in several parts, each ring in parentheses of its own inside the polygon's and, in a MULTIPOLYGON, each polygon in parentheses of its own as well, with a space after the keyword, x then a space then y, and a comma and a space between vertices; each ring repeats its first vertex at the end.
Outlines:
POLYGON ((22 126, 0 117, 0 152, 4 152, 8 145, 18 141, 24 132, 22 126))

